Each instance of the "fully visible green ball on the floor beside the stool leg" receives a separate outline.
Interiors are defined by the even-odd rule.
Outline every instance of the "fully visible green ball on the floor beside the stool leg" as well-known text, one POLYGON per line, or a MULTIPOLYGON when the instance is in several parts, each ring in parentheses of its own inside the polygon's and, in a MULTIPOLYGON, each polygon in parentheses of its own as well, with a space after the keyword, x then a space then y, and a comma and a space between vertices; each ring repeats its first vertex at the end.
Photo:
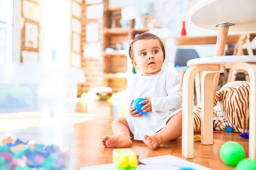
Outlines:
POLYGON ((245 157, 244 148, 239 143, 233 141, 224 143, 219 153, 222 161, 230 166, 236 166, 245 157))

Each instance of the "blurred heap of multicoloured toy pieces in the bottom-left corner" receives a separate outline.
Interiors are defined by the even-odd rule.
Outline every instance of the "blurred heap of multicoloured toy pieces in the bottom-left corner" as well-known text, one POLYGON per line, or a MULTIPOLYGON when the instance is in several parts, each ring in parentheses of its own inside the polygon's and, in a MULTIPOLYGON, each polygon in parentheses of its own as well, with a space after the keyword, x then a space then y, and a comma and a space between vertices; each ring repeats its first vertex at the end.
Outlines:
POLYGON ((7 137, 0 145, 0 170, 66 170, 66 153, 53 144, 38 144, 29 140, 7 137))

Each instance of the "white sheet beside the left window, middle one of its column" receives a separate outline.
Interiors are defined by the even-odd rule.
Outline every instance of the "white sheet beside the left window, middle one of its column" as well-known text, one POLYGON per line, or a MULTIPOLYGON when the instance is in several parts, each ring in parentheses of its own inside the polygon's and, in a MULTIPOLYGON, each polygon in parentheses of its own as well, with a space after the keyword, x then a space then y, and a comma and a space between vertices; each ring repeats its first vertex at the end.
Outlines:
POLYGON ((32 23, 25 23, 25 46, 38 48, 38 26, 32 23))

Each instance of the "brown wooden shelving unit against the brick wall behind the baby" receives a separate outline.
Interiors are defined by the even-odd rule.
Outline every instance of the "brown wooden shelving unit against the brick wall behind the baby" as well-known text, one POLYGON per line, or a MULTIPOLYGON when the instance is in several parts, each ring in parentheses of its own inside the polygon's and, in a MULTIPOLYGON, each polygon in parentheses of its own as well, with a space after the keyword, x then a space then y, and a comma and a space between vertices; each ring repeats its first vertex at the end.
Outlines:
POLYGON ((126 89, 126 78, 124 73, 128 70, 128 44, 134 39, 135 34, 142 34, 148 29, 134 29, 134 20, 131 20, 127 28, 122 28, 120 23, 122 8, 108 8, 105 10, 104 18, 104 45, 103 49, 113 48, 116 51, 104 53, 103 57, 103 84, 111 87, 114 92, 126 89), (119 44, 119 45, 117 45, 119 44), (120 49, 116 49, 120 47, 120 49), (126 47, 126 48, 125 48, 126 47), (123 73, 123 74, 119 74, 123 73))

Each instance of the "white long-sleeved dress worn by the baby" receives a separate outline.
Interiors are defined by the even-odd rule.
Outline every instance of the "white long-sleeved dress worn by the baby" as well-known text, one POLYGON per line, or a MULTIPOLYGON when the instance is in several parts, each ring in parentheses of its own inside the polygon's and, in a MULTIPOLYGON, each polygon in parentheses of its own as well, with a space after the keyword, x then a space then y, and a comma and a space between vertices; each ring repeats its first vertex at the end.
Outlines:
POLYGON ((125 116, 134 139, 143 140, 145 134, 151 136, 161 130, 170 117, 178 113, 182 103, 182 85, 172 71, 161 69, 150 76, 141 74, 133 77, 127 84, 125 116), (137 98, 148 97, 151 100, 151 113, 133 117, 129 114, 130 102, 137 98))

